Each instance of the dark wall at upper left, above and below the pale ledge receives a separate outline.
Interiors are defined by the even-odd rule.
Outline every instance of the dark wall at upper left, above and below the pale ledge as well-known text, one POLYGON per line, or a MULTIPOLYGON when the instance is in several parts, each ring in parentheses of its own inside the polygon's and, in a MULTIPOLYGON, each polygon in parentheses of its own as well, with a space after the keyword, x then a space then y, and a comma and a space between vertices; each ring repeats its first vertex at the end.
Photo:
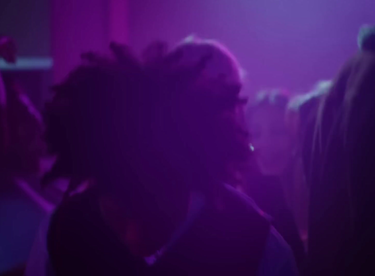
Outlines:
MULTIPOLYGON (((49 0, 0 0, 0 34, 13 37, 20 58, 51 57, 49 0)), ((37 108, 43 108, 51 84, 51 70, 4 71, 18 81, 37 108)))

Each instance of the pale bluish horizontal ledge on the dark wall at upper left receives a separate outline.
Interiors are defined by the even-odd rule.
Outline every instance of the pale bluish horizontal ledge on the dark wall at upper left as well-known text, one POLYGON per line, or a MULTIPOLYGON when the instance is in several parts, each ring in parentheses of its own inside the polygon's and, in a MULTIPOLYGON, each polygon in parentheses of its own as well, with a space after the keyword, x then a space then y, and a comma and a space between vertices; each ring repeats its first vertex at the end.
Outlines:
POLYGON ((49 70, 53 66, 53 60, 50 57, 19 57, 17 62, 6 63, 0 59, 1 71, 37 71, 49 70))

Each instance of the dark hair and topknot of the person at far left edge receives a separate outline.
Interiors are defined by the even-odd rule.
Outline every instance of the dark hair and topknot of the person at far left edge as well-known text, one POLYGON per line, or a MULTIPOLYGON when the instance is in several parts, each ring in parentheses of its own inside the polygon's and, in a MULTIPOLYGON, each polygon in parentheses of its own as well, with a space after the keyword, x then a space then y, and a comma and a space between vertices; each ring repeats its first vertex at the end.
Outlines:
MULTIPOLYGON (((16 60, 15 42, 10 37, 0 37, 0 57, 6 62, 16 60)), ((45 154, 43 123, 39 111, 34 107, 20 84, 11 77, 1 78, 1 102, 5 110, 2 116, 6 124, 3 166, 16 176, 27 176, 39 172, 40 158, 45 154)))

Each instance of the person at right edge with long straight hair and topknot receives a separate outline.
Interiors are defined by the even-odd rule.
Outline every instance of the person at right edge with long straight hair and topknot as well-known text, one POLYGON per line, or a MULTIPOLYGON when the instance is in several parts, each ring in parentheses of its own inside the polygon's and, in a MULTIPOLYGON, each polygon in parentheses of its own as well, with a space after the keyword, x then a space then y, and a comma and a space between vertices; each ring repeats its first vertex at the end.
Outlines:
POLYGON ((311 275, 374 275, 375 28, 323 98, 306 154, 311 275), (309 150, 309 149, 308 149, 309 150))

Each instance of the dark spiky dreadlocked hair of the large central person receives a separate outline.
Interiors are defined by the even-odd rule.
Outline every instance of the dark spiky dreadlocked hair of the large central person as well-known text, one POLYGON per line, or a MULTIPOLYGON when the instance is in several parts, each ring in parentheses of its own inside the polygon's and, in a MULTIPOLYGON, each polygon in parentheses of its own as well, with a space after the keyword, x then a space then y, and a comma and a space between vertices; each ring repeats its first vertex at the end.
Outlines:
POLYGON ((247 156, 247 132, 233 115, 239 87, 201 78, 210 52, 178 66, 178 47, 145 64, 126 47, 111 49, 114 60, 86 54, 88 63, 53 88, 45 121, 57 160, 43 183, 68 177, 70 192, 94 178, 112 189, 118 183, 108 182, 126 176, 121 189, 141 196, 176 179, 196 182, 196 174, 220 181, 226 163, 247 156))

